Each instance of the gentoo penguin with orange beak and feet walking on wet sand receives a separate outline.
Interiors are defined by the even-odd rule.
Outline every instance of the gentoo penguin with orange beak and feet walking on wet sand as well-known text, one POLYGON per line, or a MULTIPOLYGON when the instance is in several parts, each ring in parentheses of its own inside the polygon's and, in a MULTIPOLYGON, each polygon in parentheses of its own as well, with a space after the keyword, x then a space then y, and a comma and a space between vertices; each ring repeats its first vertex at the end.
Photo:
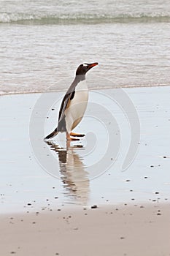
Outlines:
POLYGON ((67 140, 78 140, 73 137, 83 137, 85 135, 77 134, 72 130, 77 127, 88 105, 88 87, 85 83, 85 74, 92 67, 98 65, 97 62, 91 64, 81 64, 76 71, 76 76, 69 89, 66 91, 58 116, 58 127, 55 128, 45 140, 55 137, 58 132, 66 132, 67 140))

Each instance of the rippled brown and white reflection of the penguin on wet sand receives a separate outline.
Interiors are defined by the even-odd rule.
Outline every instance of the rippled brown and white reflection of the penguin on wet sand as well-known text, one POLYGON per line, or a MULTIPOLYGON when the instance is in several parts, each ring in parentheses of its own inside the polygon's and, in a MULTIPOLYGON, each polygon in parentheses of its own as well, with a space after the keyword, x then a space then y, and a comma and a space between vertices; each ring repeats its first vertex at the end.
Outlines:
POLYGON ((52 141, 46 141, 46 143, 58 155, 61 180, 66 192, 69 192, 69 197, 86 204, 89 192, 88 172, 85 170, 82 157, 77 154, 78 152, 75 153, 75 151, 83 150, 82 146, 70 146, 70 141, 67 141, 66 148, 60 148, 52 141))

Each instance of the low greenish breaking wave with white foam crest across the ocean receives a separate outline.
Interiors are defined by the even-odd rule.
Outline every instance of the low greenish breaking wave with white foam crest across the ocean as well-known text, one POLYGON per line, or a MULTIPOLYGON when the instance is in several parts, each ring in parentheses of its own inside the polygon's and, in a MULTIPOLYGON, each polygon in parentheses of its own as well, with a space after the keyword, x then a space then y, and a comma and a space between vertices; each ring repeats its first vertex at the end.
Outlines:
POLYGON ((83 23, 169 23, 170 13, 151 14, 42 14, 0 12, 0 23, 18 23, 29 25, 45 24, 83 24, 83 23))

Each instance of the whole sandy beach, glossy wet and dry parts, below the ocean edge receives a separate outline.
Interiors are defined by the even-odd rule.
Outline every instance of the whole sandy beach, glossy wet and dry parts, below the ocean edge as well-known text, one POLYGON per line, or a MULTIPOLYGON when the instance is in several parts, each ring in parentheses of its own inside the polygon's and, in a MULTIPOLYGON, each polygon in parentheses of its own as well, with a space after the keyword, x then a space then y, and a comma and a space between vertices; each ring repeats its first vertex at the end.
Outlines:
MULTIPOLYGON (((87 139, 64 149, 62 136, 52 144, 35 144, 45 150, 39 148, 42 163, 35 158, 28 129, 40 94, 1 96, 0 254, 170 255, 169 92, 169 86, 125 89, 140 122, 139 148, 125 171, 121 167, 130 141, 129 126, 119 106, 102 96, 120 127, 121 145, 114 163, 97 174, 90 170, 106 152, 102 122, 107 116, 100 112, 102 122, 97 126, 97 118, 90 116, 92 103, 97 104, 101 93, 114 98, 116 89, 90 91, 87 117, 77 127, 77 132, 93 131, 96 137, 90 142, 97 146, 87 139)), ((60 99, 63 92, 57 95, 60 99)), ((45 117, 45 134, 56 124, 58 104, 45 117)), ((38 121, 44 109, 37 111, 38 121)), ((43 141, 41 136, 40 131, 35 140, 43 141)))

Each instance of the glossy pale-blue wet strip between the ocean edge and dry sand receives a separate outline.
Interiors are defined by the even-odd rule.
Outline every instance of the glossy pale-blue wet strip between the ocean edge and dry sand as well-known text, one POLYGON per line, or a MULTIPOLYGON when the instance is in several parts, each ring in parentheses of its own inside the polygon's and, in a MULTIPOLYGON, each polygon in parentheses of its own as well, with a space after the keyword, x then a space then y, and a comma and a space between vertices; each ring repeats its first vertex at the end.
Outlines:
MULTIPOLYGON (((102 159, 107 148, 108 131, 104 132, 104 127, 99 125, 105 118, 104 112, 100 113, 101 119, 98 122, 95 116, 89 119, 93 109, 88 108, 85 118, 77 127, 77 132, 85 132, 86 135, 93 132, 96 141, 83 138, 80 142, 75 141, 66 146, 63 135, 53 142, 45 143, 41 133, 36 136, 42 127, 35 125, 33 137, 38 144, 34 145, 42 145, 42 148, 37 148, 40 154, 37 159, 36 148, 31 148, 30 140, 33 137, 28 126, 31 112, 40 95, 1 97, 1 213, 58 209, 70 204, 89 207, 94 204, 115 206, 122 203, 169 203, 169 86, 125 91, 139 113, 139 151, 132 165, 122 171, 121 165, 131 139, 130 127, 120 108, 118 110, 115 105, 109 105, 120 127, 120 152, 115 159, 109 159, 112 162, 109 169, 98 173, 96 178, 90 173, 91 166, 102 159), (49 163, 48 159, 52 159, 52 162, 49 163), (45 163, 48 167, 46 170, 45 163)), ((109 94, 113 97, 115 90, 109 90, 109 94)), ((96 95, 90 92, 94 102, 96 95)), ((62 93, 58 93, 58 97, 61 96, 62 93)), ((107 105, 108 102, 105 108, 107 105)), ((49 118, 46 118, 45 135, 54 128, 57 114, 57 109, 50 110, 49 118)), ((41 113, 37 112, 36 119, 41 117, 41 113)), ((115 145, 112 144, 112 151, 115 145)), ((107 161, 103 164, 108 166, 107 161)))

